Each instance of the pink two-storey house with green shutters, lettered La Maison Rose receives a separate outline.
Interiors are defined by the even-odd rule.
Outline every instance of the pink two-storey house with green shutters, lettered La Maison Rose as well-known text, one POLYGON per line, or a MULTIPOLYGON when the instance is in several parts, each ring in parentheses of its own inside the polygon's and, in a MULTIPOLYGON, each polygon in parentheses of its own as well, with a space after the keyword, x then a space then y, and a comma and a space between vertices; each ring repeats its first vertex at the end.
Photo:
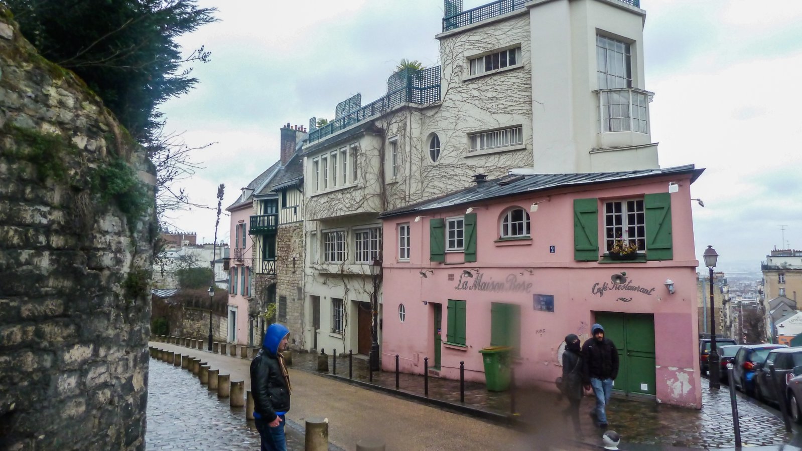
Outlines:
POLYGON ((693 165, 508 175, 383 214, 382 365, 484 381, 480 349, 512 346, 516 381, 553 389, 563 340, 599 322, 614 389, 701 407, 693 165), (616 238, 637 244, 616 256, 616 238), (618 260, 630 258, 631 260, 618 260))

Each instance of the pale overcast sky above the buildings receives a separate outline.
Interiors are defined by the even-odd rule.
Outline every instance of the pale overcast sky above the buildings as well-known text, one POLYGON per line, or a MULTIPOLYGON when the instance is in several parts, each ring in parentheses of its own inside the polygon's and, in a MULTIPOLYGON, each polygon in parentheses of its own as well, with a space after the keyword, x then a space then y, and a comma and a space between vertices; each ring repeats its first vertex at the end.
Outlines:
MULTIPOLYGON (((483 5, 465 0, 464 9, 483 5)), ((199 0, 220 22, 180 38, 205 45, 197 87, 164 104, 204 169, 181 183, 192 201, 223 207, 279 158, 282 124, 334 117, 338 102, 383 95, 401 58, 436 66, 440 0, 199 0)), ((691 187, 695 248, 719 252, 718 269, 759 271, 774 248, 802 248, 802 2, 641 0, 652 140, 661 167, 706 171, 691 187), (787 226, 783 233, 781 225, 787 226)), ((225 213, 225 211, 224 211, 225 213)), ((211 242, 214 212, 172 215, 211 242)), ((229 241, 229 217, 218 240, 229 241)))

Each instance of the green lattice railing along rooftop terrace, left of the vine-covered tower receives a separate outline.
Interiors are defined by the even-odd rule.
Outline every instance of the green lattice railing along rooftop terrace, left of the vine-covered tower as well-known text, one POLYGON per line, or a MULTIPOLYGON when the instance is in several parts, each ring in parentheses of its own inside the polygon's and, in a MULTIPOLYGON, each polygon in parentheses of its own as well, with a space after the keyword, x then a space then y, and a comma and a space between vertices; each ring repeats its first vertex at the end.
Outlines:
MULTIPOLYGON (((387 79, 387 95, 359 108, 341 118, 309 132, 309 142, 314 143, 326 136, 334 135, 365 119, 391 111, 402 103, 438 102, 440 99, 440 66, 423 70, 402 70, 387 79)), ((253 217, 253 216, 252 216, 253 217)))

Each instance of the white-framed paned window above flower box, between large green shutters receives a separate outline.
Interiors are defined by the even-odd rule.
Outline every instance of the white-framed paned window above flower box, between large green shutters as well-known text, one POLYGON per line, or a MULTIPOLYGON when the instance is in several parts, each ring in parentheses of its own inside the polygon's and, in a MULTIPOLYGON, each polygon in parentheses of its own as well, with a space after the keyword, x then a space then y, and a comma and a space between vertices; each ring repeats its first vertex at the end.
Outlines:
POLYGON ((646 213, 643 199, 617 200, 604 204, 605 251, 610 252, 616 240, 638 245, 646 252, 646 213))

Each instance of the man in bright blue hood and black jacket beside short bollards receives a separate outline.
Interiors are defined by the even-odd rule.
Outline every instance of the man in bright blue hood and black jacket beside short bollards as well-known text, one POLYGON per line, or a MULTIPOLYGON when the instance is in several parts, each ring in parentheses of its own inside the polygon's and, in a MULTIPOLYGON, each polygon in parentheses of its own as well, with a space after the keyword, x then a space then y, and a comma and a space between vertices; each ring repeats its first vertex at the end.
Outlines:
POLYGON ((284 419, 290 410, 290 373, 282 351, 290 331, 282 324, 270 324, 261 351, 251 361, 253 417, 261 436, 261 451, 286 451, 284 419))

